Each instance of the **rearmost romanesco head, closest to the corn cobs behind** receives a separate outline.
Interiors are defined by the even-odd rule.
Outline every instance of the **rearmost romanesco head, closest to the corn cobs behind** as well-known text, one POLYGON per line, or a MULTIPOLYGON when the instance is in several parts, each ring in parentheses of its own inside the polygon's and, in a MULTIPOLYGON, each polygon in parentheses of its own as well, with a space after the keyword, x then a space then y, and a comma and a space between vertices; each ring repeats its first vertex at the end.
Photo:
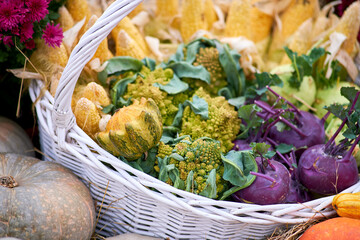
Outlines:
POLYGON ((190 83, 190 87, 198 89, 203 87, 212 96, 217 96, 218 91, 227 86, 226 74, 220 64, 219 51, 215 47, 200 48, 196 54, 194 66, 204 66, 210 73, 210 84, 196 80, 190 83))

